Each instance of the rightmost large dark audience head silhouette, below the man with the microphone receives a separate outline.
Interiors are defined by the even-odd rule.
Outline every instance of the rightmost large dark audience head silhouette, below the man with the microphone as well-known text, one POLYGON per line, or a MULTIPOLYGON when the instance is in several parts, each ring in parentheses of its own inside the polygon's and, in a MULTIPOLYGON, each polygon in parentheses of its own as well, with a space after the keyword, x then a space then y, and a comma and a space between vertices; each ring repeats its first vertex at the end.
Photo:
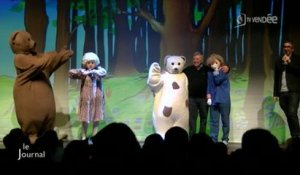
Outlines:
MULTIPOLYGON (((232 154, 233 164, 245 174, 282 174, 285 169, 282 149, 276 137, 268 130, 254 128, 242 136, 241 149, 232 154)), ((236 168, 236 167, 231 167, 236 168)))

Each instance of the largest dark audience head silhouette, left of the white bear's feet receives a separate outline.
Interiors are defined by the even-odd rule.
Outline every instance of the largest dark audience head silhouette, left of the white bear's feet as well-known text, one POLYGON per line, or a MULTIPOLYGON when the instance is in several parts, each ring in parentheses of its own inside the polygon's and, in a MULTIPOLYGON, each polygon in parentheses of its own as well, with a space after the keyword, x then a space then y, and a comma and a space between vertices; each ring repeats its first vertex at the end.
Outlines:
POLYGON ((110 173, 132 173, 138 167, 141 146, 124 123, 110 123, 91 138, 91 161, 110 173))

